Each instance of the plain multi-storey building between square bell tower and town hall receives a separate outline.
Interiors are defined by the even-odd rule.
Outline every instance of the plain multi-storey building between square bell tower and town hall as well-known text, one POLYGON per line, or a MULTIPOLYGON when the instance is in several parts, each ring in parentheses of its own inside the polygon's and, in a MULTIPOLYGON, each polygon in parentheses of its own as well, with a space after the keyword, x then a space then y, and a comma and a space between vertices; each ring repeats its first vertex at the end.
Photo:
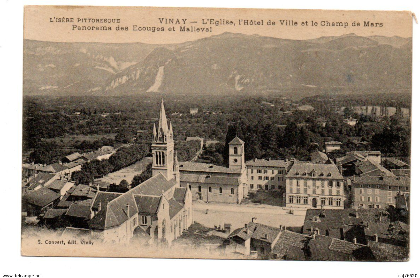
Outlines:
POLYGON ((286 172, 292 164, 289 160, 254 159, 247 166, 247 187, 249 191, 281 190, 286 185, 286 172))

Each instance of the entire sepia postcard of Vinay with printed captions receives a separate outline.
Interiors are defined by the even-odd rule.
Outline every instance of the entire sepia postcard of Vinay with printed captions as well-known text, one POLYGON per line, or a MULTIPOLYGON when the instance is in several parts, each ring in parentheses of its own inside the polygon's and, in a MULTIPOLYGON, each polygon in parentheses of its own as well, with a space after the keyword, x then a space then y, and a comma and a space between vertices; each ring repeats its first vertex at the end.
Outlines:
POLYGON ((22 256, 409 261, 411 12, 23 19, 22 256))

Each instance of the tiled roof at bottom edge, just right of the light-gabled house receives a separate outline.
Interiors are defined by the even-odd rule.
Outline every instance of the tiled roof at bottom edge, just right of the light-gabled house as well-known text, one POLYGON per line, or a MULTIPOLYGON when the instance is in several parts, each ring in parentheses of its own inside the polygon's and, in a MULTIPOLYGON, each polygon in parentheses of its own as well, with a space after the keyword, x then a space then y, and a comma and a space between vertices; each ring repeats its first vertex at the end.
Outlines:
POLYGON ((310 236, 282 230, 271 251, 278 259, 304 260, 306 258, 304 247, 310 236))

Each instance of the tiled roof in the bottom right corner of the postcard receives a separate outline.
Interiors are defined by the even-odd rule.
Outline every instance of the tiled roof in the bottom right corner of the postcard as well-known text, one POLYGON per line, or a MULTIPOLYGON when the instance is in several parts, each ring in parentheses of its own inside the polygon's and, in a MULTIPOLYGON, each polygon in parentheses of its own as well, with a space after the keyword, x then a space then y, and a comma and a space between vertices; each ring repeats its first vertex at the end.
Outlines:
POLYGON ((408 249, 392 244, 369 241, 367 245, 372 250, 373 256, 378 262, 394 262, 408 260, 408 249))

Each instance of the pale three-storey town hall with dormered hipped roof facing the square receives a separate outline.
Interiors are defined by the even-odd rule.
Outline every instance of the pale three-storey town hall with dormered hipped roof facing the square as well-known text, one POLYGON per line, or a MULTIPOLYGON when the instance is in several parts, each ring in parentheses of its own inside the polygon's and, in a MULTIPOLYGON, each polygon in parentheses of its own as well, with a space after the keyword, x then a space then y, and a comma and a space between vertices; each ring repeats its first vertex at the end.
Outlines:
POLYGON ((286 175, 286 207, 344 208, 344 178, 334 164, 295 162, 286 175))

